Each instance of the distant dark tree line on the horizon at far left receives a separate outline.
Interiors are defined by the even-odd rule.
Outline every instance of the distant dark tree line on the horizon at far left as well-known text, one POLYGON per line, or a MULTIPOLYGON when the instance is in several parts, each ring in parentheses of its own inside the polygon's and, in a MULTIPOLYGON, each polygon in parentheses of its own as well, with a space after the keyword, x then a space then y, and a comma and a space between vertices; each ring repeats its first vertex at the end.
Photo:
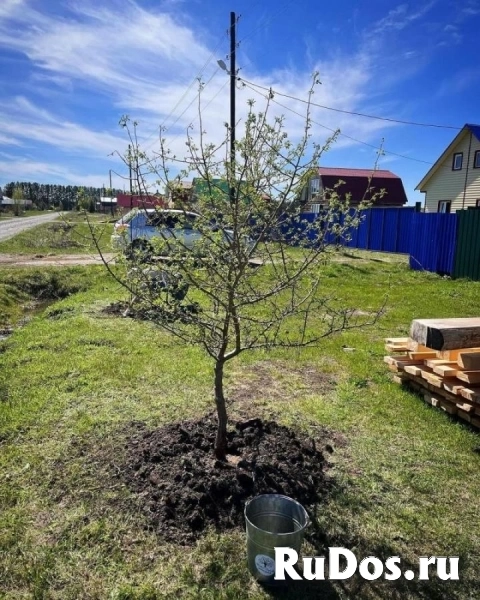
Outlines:
POLYGON ((34 207, 40 210, 59 208, 75 210, 86 208, 85 204, 95 204, 100 196, 116 196, 122 190, 95 188, 78 185, 58 185, 25 181, 12 181, 3 186, 3 195, 13 198, 14 191, 20 190, 24 200, 31 200, 34 207))

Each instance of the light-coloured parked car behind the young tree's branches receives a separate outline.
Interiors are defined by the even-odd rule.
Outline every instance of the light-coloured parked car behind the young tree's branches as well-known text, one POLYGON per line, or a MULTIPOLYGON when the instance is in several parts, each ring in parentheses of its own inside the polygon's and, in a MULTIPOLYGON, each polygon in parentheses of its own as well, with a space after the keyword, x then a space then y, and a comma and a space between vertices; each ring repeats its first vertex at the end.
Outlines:
MULTIPOLYGON (((151 253, 152 239, 157 238, 166 241, 165 252, 168 254, 168 239, 175 238, 186 249, 191 250, 203 237, 198 226, 196 227, 197 219, 200 219, 200 215, 191 211, 134 208, 115 223, 112 246, 127 253, 151 253)), ((212 232, 216 230, 214 224, 211 228, 212 232)), ((225 230, 224 235, 228 238, 233 232, 225 230)), ((251 238, 246 241, 253 247, 254 241, 251 238)))

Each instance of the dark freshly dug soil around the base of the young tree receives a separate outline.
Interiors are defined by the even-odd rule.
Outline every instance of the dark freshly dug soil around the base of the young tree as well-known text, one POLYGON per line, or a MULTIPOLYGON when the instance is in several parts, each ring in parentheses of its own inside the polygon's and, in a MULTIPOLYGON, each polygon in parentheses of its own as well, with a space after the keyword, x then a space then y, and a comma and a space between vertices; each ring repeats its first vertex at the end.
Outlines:
POLYGON ((261 419, 234 427, 223 463, 213 456, 213 416, 153 431, 136 424, 123 473, 162 538, 189 544, 208 527, 243 528, 245 502, 258 494, 285 494, 308 510, 326 493, 329 465, 320 448, 332 451, 327 433, 317 434, 315 441, 301 439, 261 419))

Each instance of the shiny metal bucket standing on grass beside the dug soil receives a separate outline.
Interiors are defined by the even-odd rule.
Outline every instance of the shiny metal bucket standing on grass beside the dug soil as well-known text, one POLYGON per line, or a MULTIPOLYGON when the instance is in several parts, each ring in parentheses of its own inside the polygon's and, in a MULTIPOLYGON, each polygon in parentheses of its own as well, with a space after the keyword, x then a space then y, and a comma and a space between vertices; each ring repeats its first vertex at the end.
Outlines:
POLYGON ((275 583, 275 547, 300 554, 307 511, 288 496, 263 494, 246 503, 245 522, 248 569, 259 582, 275 583))

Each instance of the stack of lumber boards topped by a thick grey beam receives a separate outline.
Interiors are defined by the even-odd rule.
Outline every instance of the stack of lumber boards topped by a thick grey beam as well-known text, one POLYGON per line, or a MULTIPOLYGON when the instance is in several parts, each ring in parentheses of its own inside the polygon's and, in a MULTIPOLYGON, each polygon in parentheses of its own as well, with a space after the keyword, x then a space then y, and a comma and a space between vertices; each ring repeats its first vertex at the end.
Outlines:
POLYGON ((410 337, 386 338, 394 381, 480 428, 480 318, 417 319, 410 337))

